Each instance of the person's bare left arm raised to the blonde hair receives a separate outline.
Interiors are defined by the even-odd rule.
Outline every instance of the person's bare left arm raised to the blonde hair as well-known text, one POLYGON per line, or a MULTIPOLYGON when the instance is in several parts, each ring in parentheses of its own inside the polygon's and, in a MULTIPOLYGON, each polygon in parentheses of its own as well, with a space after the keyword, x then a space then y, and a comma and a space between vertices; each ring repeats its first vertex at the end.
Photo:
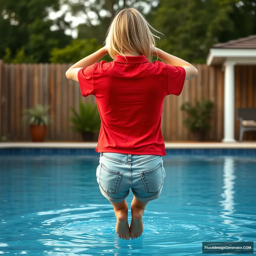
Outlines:
POLYGON ((94 52, 93 54, 83 58, 82 60, 79 60, 76 64, 71 66, 67 72, 66 77, 70 80, 78 82, 78 71, 82 68, 87 68, 94 63, 96 63, 98 60, 100 60, 104 55, 106 55, 107 50, 105 47, 102 47, 98 51, 94 52))

